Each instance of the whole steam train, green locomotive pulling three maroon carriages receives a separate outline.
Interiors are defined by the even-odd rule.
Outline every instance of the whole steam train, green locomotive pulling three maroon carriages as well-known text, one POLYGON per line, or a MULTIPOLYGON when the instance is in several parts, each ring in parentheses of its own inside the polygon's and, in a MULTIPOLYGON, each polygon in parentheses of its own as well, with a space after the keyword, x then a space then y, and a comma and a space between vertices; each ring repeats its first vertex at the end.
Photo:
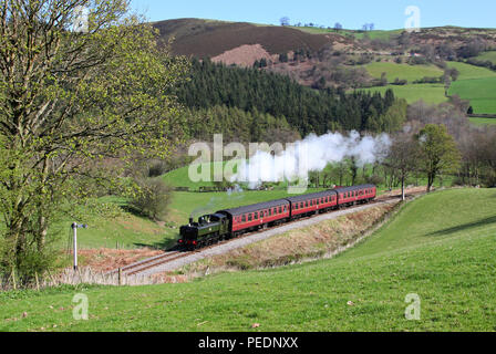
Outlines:
POLYGON ((200 217, 198 222, 190 218, 189 225, 180 228, 178 243, 184 250, 195 250, 300 218, 368 204, 375 197, 374 185, 361 185, 219 210, 200 217))

